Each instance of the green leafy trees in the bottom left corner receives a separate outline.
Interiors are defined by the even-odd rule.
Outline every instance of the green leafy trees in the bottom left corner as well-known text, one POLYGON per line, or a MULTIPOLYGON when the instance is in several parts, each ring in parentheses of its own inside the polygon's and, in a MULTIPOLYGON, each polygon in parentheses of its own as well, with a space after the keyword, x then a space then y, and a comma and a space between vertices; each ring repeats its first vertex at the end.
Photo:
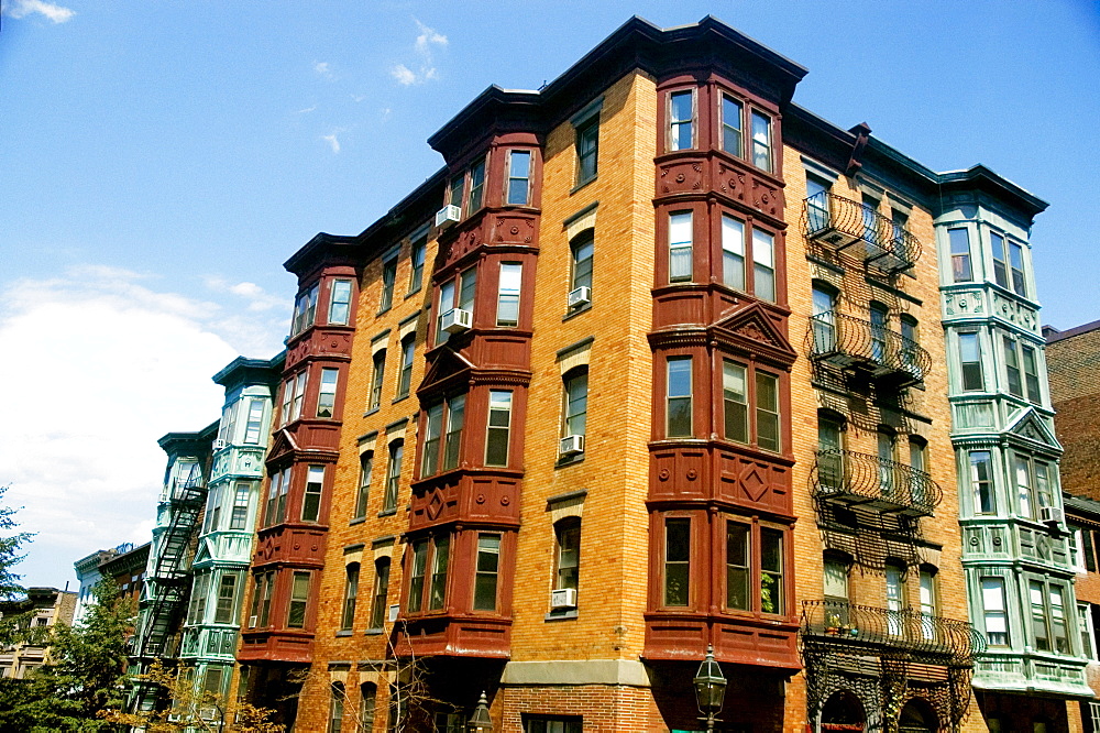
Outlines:
POLYGON ((0 710, 6 699, 14 704, 0 712, 0 730, 120 730, 98 714, 123 704, 125 637, 133 628, 134 604, 119 597, 111 580, 100 582, 95 594, 84 625, 53 627, 45 666, 28 680, 3 680, 10 687, 0 691, 0 710))

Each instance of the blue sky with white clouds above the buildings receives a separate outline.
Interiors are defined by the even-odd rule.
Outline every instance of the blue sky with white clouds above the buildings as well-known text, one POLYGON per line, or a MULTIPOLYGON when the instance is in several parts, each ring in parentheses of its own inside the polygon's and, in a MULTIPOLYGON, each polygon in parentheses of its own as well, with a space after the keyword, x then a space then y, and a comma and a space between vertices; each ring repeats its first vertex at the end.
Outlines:
POLYGON ((795 101, 937 171, 1047 200, 1045 324, 1100 319, 1100 2, 0 0, 0 485, 64 587, 147 541, 157 438, 210 378, 282 349, 282 266, 354 234, 442 158, 492 84, 537 89, 630 15, 707 14, 810 69, 795 101))

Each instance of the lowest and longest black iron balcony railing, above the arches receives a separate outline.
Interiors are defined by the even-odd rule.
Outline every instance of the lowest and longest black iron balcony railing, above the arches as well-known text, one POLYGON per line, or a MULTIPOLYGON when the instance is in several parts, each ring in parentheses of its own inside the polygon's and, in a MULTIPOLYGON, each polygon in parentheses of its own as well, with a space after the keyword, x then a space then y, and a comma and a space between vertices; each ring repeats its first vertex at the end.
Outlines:
POLYGON ((801 638, 803 647, 816 652, 903 657, 947 667, 971 667, 986 650, 986 638, 966 621, 847 601, 803 601, 801 638))

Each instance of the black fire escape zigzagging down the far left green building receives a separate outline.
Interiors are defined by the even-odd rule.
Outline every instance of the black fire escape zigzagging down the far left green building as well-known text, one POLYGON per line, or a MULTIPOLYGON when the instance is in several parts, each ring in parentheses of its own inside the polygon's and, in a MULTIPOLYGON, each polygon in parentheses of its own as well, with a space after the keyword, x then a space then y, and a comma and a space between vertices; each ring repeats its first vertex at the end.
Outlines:
MULTIPOLYGON (((145 671, 154 659, 174 657, 173 632, 178 628, 180 615, 190 589, 190 572, 185 568, 191 533, 206 499, 206 486, 196 463, 185 479, 176 479, 168 491, 169 522, 161 535, 156 562, 146 580, 150 598, 139 624, 134 645, 134 660, 145 671)), ((162 690, 156 685, 139 682, 131 711, 153 709, 162 690)))

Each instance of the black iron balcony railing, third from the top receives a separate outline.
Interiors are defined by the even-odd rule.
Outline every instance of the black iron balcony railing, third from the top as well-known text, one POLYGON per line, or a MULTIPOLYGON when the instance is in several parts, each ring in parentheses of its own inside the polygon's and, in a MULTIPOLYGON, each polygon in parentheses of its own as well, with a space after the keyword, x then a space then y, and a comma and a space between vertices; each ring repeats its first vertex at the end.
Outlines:
POLYGON ((810 475, 814 496, 881 512, 924 516, 944 499, 924 471, 853 450, 818 450, 810 475))

